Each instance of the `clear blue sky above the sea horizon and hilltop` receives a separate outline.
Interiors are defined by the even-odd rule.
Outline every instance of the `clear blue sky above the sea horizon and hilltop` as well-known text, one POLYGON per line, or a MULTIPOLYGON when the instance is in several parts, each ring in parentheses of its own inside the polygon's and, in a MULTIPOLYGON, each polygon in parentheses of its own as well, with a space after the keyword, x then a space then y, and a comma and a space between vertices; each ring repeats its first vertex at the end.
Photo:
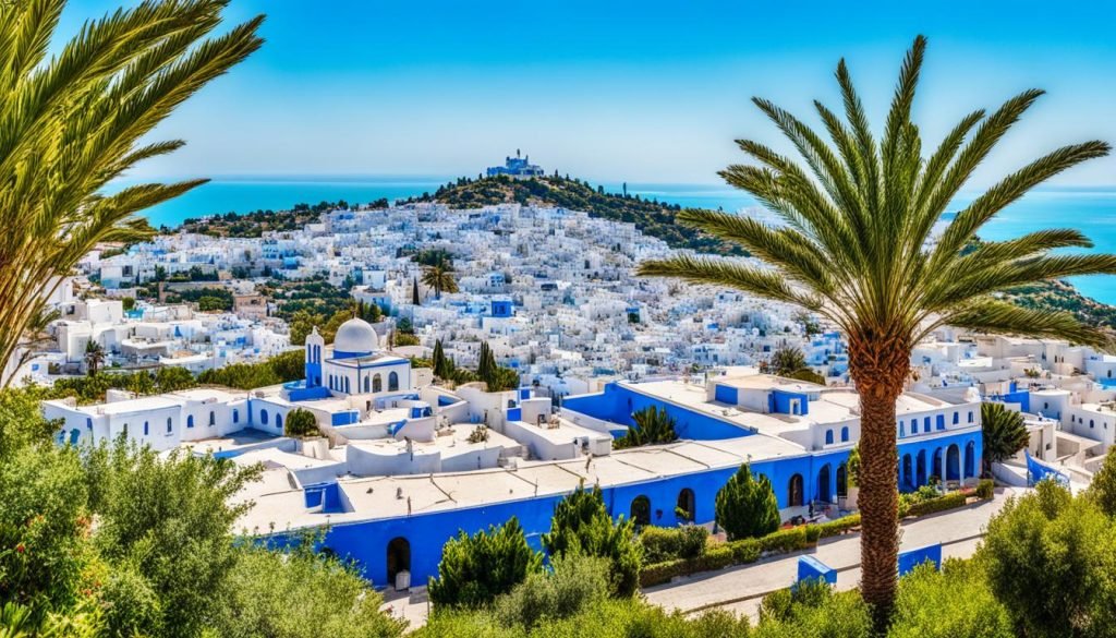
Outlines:
MULTIPOLYGON (((71 0, 61 32, 122 1, 71 0)), ((260 12, 263 48, 160 128, 189 145, 136 177, 475 174, 522 149, 593 181, 716 183, 742 159, 734 139, 778 145, 749 97, 839 106, 844 56, 878 122, 920 32, 924 137, 1049 92, 975 185, 1062 143, 1116 143, 1116 2, 232 0, 227 15, 260 12)), ((1116 184, 1116 160, 1060 183, 1116 184)))

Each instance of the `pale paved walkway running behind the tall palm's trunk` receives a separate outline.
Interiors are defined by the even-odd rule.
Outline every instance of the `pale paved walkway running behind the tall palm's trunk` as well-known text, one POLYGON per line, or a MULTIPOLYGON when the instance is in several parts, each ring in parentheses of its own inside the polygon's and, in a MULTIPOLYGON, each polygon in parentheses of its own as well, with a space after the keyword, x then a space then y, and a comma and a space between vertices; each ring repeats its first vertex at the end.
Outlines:
MULTIPOLYGON (((991 502, 904 523, 899 545, 913 549, 941 542, 944 545, 943 558, 971 556, 989 518, 1014 493, 1017 488, 998 488, 995 498, 991 502)), ((860 579, 860 535, 846 534, 822 540, 812 550, 695 574, 645 589, 644 594, 650 602, 667 610, 695 612, 718 607, 754 618, 764 594, 793 584, 798 573, 798 556, 802 554, 810 554, 836 569, 838 589, 853 589, 860 579)))

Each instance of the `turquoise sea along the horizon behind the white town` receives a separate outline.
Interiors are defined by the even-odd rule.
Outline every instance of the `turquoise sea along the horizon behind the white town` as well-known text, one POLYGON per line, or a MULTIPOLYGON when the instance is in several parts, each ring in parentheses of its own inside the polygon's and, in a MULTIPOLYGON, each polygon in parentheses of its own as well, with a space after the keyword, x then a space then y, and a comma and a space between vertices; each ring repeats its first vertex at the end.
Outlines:
MULTIPOLYGON (((433 192, 455 178, 422 177, 228 177, 218 178, 186 194, 151 208, 152 226, 173 228, 187 218, 225 212, 283 210, 296 203, 345 200, 349 204, 381 198, 389 201, 433 192)), ((683 207, 759 211, 742 191, 720 184, 609 183, 606 191, 638 194, 683 207)), ((950 210, 972 201, 961 196, 950 210)), ((1097 251, 1116 253, 1116 187, 1048 188, 1035 190, 1008 207, 980 231, 984 239, 1001 240, 1045 228, 1076 228, 1090 238, 1097 251)), ((1075 277, 1085 295, 1116 305, 1116 276, 1075 277)))

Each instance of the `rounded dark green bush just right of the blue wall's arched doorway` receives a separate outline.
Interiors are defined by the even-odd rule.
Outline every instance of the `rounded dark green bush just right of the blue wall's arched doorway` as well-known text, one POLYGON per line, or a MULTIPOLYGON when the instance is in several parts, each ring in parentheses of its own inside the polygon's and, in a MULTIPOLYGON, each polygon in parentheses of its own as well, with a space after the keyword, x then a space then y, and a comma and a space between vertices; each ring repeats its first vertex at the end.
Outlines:
POLYGON ((527 544, 513 516, 488 532, 461 531, 451 539, 442 547, 437 578, 430 581, 430 599, 445 607, 483 607, 541 569, 542 555, 527 544))

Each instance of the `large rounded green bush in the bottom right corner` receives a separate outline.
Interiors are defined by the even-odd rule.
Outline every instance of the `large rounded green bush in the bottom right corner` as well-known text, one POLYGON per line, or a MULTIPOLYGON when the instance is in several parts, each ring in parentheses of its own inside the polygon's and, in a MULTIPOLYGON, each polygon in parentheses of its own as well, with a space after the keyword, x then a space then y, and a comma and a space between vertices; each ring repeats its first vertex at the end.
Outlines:
POLYGON ((1017 635, 1105 636, 1116 622, 1116 529, 1090 498, 1040 482, 989 522, 978 559, 1017 635))

